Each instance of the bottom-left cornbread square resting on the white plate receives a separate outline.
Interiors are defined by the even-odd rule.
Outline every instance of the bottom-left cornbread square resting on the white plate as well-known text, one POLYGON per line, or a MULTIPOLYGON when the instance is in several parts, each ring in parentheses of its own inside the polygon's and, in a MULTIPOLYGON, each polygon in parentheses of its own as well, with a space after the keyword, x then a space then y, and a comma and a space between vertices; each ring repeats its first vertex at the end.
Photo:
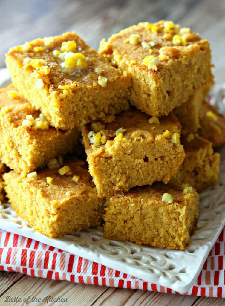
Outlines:
POLYGON ((69 171, 64 175, 59 174, 62 169, 47 168, 40 170, 36 177, 21 178, 16 171, 4 174, 12 208, 49 238, 62 237, 101 222, 104 200, 97 197, 86 163, 74 158, 67 160, 65 166, 69 166, 69 171))

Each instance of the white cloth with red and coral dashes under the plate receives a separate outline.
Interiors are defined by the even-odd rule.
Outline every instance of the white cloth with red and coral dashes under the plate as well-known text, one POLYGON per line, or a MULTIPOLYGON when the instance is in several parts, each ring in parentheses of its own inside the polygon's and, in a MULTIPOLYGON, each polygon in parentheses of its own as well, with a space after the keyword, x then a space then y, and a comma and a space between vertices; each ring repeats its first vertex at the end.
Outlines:
MULTIPOLYGON (((225 297, 225 228, 187 295, 225 297)), ((120 288, 176 293, 39 241, 0 230, 0 270, 120 288)))

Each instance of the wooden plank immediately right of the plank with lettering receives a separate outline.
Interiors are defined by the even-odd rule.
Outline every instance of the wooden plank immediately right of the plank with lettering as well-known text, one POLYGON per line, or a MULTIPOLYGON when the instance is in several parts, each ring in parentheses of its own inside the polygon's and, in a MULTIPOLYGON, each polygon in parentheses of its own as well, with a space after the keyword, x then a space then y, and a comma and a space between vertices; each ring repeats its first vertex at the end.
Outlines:
POLYGON ((104 292, 91 306, 191 306, 197 297, 144 290, 115 289, 104 292))

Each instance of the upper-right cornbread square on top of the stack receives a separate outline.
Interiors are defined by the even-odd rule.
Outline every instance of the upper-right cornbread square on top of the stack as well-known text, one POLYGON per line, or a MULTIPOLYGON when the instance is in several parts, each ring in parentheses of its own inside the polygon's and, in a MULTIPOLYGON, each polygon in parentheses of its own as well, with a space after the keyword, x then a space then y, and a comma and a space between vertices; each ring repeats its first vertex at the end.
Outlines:
POLYGON ((168 115, 213 79, 208 41, 172 21, 126 28, 103 39, 99 53, 131 73, 131 104, 151 116, 168 115))

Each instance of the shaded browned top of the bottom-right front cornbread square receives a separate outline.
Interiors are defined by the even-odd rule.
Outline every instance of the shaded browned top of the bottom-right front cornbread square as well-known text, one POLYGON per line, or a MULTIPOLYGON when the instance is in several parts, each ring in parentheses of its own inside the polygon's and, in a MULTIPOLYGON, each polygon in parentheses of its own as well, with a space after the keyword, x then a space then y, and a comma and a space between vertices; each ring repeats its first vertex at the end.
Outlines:
MULTIPOLYGON (((149 206, 170 206, 178 205, 179 207, 185 206, 187 201, 190 201, 193 197, 193 193, 197 194, 195 189, 192 192, 183 193, 184 187, 177 184, 162 184, 155 183, 152 186, 142 186, 130 189, 125 192, 124 195, 113 196, 110 198, 111 201, 131 201, 132 203, 145 203, 149 206), (169 193, 173 197, 173 202, 168 203, 162 201, 163 193, 169 193)), ((198 196, 199 197, 199 196, 198 196)))

